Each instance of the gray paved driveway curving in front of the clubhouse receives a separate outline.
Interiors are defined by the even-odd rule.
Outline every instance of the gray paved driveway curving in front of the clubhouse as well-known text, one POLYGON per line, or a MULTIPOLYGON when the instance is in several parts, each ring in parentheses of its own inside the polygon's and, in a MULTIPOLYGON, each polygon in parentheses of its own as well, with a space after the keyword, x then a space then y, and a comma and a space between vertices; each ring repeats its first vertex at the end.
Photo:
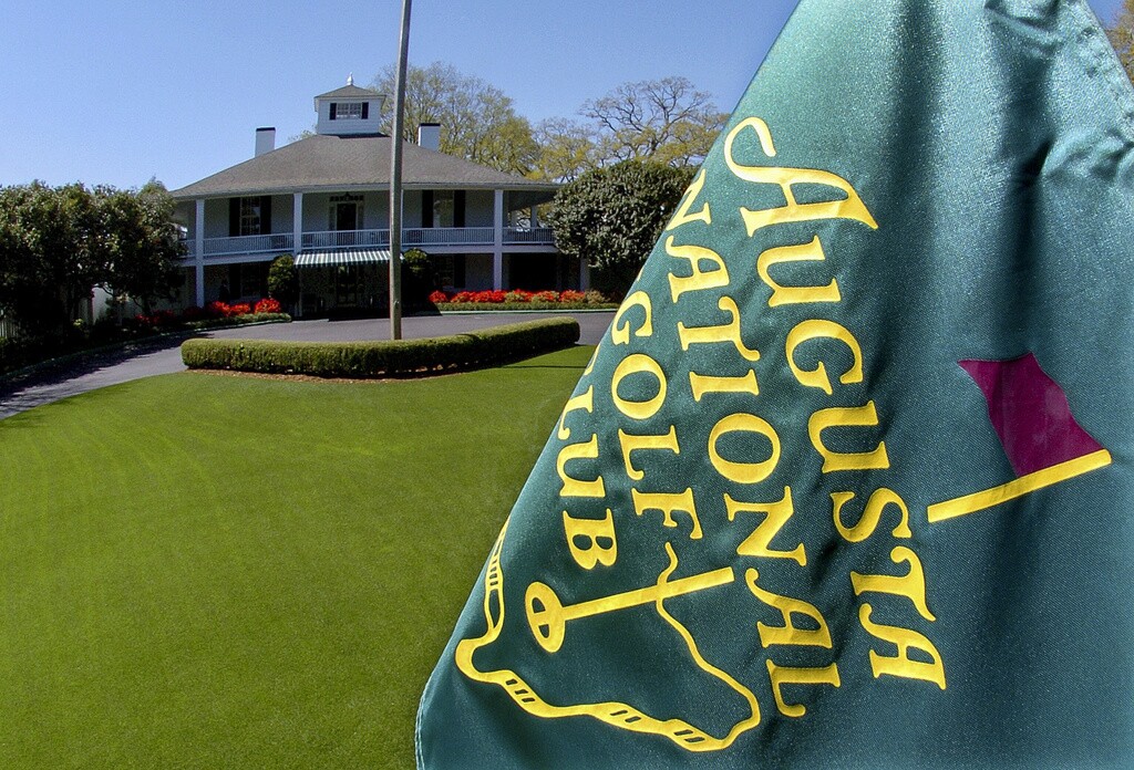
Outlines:
MULTIPOLYGON (((488 326, 521 320, 550 318, 558 314, 477 313, 404 318, 401 335, 406 339, 460 334, 488 326)), ((599 343, 615 314, 578 313, 579 342, 599 343)), ((237 340, 301 340, 307 342, 349 342, 352 340, 389 340, 390 322, 386 318, 361 320, 296 320, 290 324, 243 326, 209 332, 208 336, 237 340)), ((180 344, 184 337, 151 340, 126 350, 98 353, 50 367, 14 382, 0 383, 0 420, 40 404, 86 393, 132 379, 181 371, 180 344)))

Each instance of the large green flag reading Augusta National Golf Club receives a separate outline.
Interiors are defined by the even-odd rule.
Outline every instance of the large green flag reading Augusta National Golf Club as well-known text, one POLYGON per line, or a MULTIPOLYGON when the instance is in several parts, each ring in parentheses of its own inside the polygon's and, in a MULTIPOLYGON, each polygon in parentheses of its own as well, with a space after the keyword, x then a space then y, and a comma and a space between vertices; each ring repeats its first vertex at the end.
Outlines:
POLYGON ((1086 3, 803 0, 551 427, 418 765, 1128 767, 1132 346, 1134 89, 1086 3))

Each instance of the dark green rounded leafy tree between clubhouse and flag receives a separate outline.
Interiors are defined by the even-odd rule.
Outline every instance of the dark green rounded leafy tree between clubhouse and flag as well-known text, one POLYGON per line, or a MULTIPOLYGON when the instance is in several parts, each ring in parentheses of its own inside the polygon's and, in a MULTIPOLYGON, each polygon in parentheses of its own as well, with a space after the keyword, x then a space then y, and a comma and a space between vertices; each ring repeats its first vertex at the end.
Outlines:
POLYGON ((692 178, 689 168, 654 161, 594 169, 559 188, 547 221, 560 251, 595 268, 596 289, 623 296, 692 178))

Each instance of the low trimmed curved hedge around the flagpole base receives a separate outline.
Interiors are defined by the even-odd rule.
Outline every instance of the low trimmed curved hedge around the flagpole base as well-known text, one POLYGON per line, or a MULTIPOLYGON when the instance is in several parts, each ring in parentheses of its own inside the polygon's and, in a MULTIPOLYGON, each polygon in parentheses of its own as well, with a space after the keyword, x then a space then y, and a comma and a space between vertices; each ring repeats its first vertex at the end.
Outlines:
POLYGON ((191 369, 230 369, 312 377, 414 377, 499 366, 578 342, 574 318, 523 324, 424 340, 277 342, 186 340, 181 360, 191 369))

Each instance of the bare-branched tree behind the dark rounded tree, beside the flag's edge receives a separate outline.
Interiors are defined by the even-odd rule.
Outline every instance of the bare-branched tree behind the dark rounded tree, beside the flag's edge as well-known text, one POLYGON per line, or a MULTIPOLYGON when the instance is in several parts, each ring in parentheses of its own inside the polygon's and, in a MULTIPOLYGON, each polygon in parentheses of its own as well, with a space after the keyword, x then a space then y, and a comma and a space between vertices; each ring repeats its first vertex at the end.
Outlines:
POLYGON ((728 119, 684 77, 624 83, 579 112, 594 121, 604 162, 649 159, 674 166, 700 164, 728 119))

